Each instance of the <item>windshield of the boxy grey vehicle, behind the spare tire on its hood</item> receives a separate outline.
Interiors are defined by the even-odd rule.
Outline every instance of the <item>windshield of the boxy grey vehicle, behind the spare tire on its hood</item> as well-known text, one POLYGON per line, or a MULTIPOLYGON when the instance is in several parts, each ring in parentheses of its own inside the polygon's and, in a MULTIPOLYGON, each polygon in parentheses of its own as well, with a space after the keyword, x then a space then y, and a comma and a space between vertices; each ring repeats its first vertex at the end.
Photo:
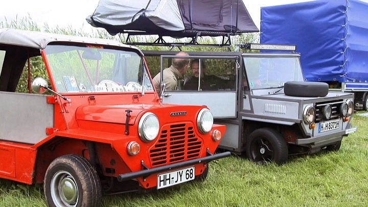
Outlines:
POLYGON ((243 57, 249 89, 283 87, 287 81, 304 81, 298 57, 243 57))

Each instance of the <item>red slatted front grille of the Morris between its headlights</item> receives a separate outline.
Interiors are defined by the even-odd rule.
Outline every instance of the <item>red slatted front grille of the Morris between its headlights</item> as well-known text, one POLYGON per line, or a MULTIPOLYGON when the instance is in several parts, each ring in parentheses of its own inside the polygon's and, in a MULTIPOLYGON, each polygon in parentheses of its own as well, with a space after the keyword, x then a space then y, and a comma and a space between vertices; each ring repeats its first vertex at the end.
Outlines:
POLYGON ((202 140, 194 133, 192 123, 165 125, 150 150, 152 167, 198 158, 201 147, 202 140))

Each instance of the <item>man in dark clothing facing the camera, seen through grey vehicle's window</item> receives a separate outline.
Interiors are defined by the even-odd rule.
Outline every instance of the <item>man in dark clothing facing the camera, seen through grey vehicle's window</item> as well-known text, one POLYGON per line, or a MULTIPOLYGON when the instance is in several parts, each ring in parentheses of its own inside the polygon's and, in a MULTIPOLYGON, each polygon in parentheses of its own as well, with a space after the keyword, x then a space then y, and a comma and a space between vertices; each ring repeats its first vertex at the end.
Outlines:
POLYGON ((184 82, 184 90, 203 90, 203 91, 217 91, 224 88, 226 80, 223 80, 216 75, 205 75, 204 61, 194 59, 191 63, 191 69, 193 76, 184 82), (200 78, 200 87, 198 88, 198 82, 200 78))

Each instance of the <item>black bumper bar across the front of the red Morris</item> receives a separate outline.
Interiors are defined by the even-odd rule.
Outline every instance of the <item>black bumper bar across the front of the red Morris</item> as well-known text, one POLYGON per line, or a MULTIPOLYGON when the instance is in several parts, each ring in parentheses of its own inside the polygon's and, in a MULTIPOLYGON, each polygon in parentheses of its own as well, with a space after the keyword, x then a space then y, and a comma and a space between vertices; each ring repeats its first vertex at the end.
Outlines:
MULTIPOLYGON (((211 154, 211 153, 208 152, 208 154, 211 154)), ((206 162, 210 162, 210 161, 215 160, 215 159, 228 157, 230 155, 231 155, 230 152, 223 152, 223 153, 209 155, 209 156, 205 156, 205 157, 201 157, 201 158, 197 158, 197 159, 191 159, 191 160, 188 160, 188 161, 177 162, 177 163, 174 163, 174 164, 160 166, 160 167, 157 167, 157 168, 151 168, 151 169, 141 170, 141 171, 137 171, 137 172, 125 173, 125 174, 119 175, 117 178, 118 178, 118 181, 124 181, 124 180, 130 180, 130 179, 137 178, 137 177, 147 177, 147 176, 155 174, 155 173, 159 173, 159 172, 163 172, 163 171, 167 171, 167 170, 172 170, 172 169, 177 169, 177 168, 181 168, 181 167, 186 167, 186 166, 189 166, 189 165, 198 164, 198 163, 202 163, 202 162, 206 163, 206 162)))

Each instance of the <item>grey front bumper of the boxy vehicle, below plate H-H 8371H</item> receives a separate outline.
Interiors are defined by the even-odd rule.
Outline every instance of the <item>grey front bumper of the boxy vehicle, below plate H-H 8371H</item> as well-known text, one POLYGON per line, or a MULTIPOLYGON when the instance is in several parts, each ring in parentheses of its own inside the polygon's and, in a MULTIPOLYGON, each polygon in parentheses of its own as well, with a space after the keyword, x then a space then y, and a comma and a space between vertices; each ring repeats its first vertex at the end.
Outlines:
POLYGON ((336 132, 333 134, 328 134, 325 136, 317 136, 317 137, 311 137, 311 138, 303 138, 303 139, 296 139, 296 144, 313 144, 313 147, 319 147, 323 146, 326 143, 329 142, 335 142, 342 139, 342 136, 347 136, 350 133, 356 132, 357 127, 352 127, 352 124, 349 123, 346 130, 336 132), (339 139, 339 140, 338 140, 339 139))

